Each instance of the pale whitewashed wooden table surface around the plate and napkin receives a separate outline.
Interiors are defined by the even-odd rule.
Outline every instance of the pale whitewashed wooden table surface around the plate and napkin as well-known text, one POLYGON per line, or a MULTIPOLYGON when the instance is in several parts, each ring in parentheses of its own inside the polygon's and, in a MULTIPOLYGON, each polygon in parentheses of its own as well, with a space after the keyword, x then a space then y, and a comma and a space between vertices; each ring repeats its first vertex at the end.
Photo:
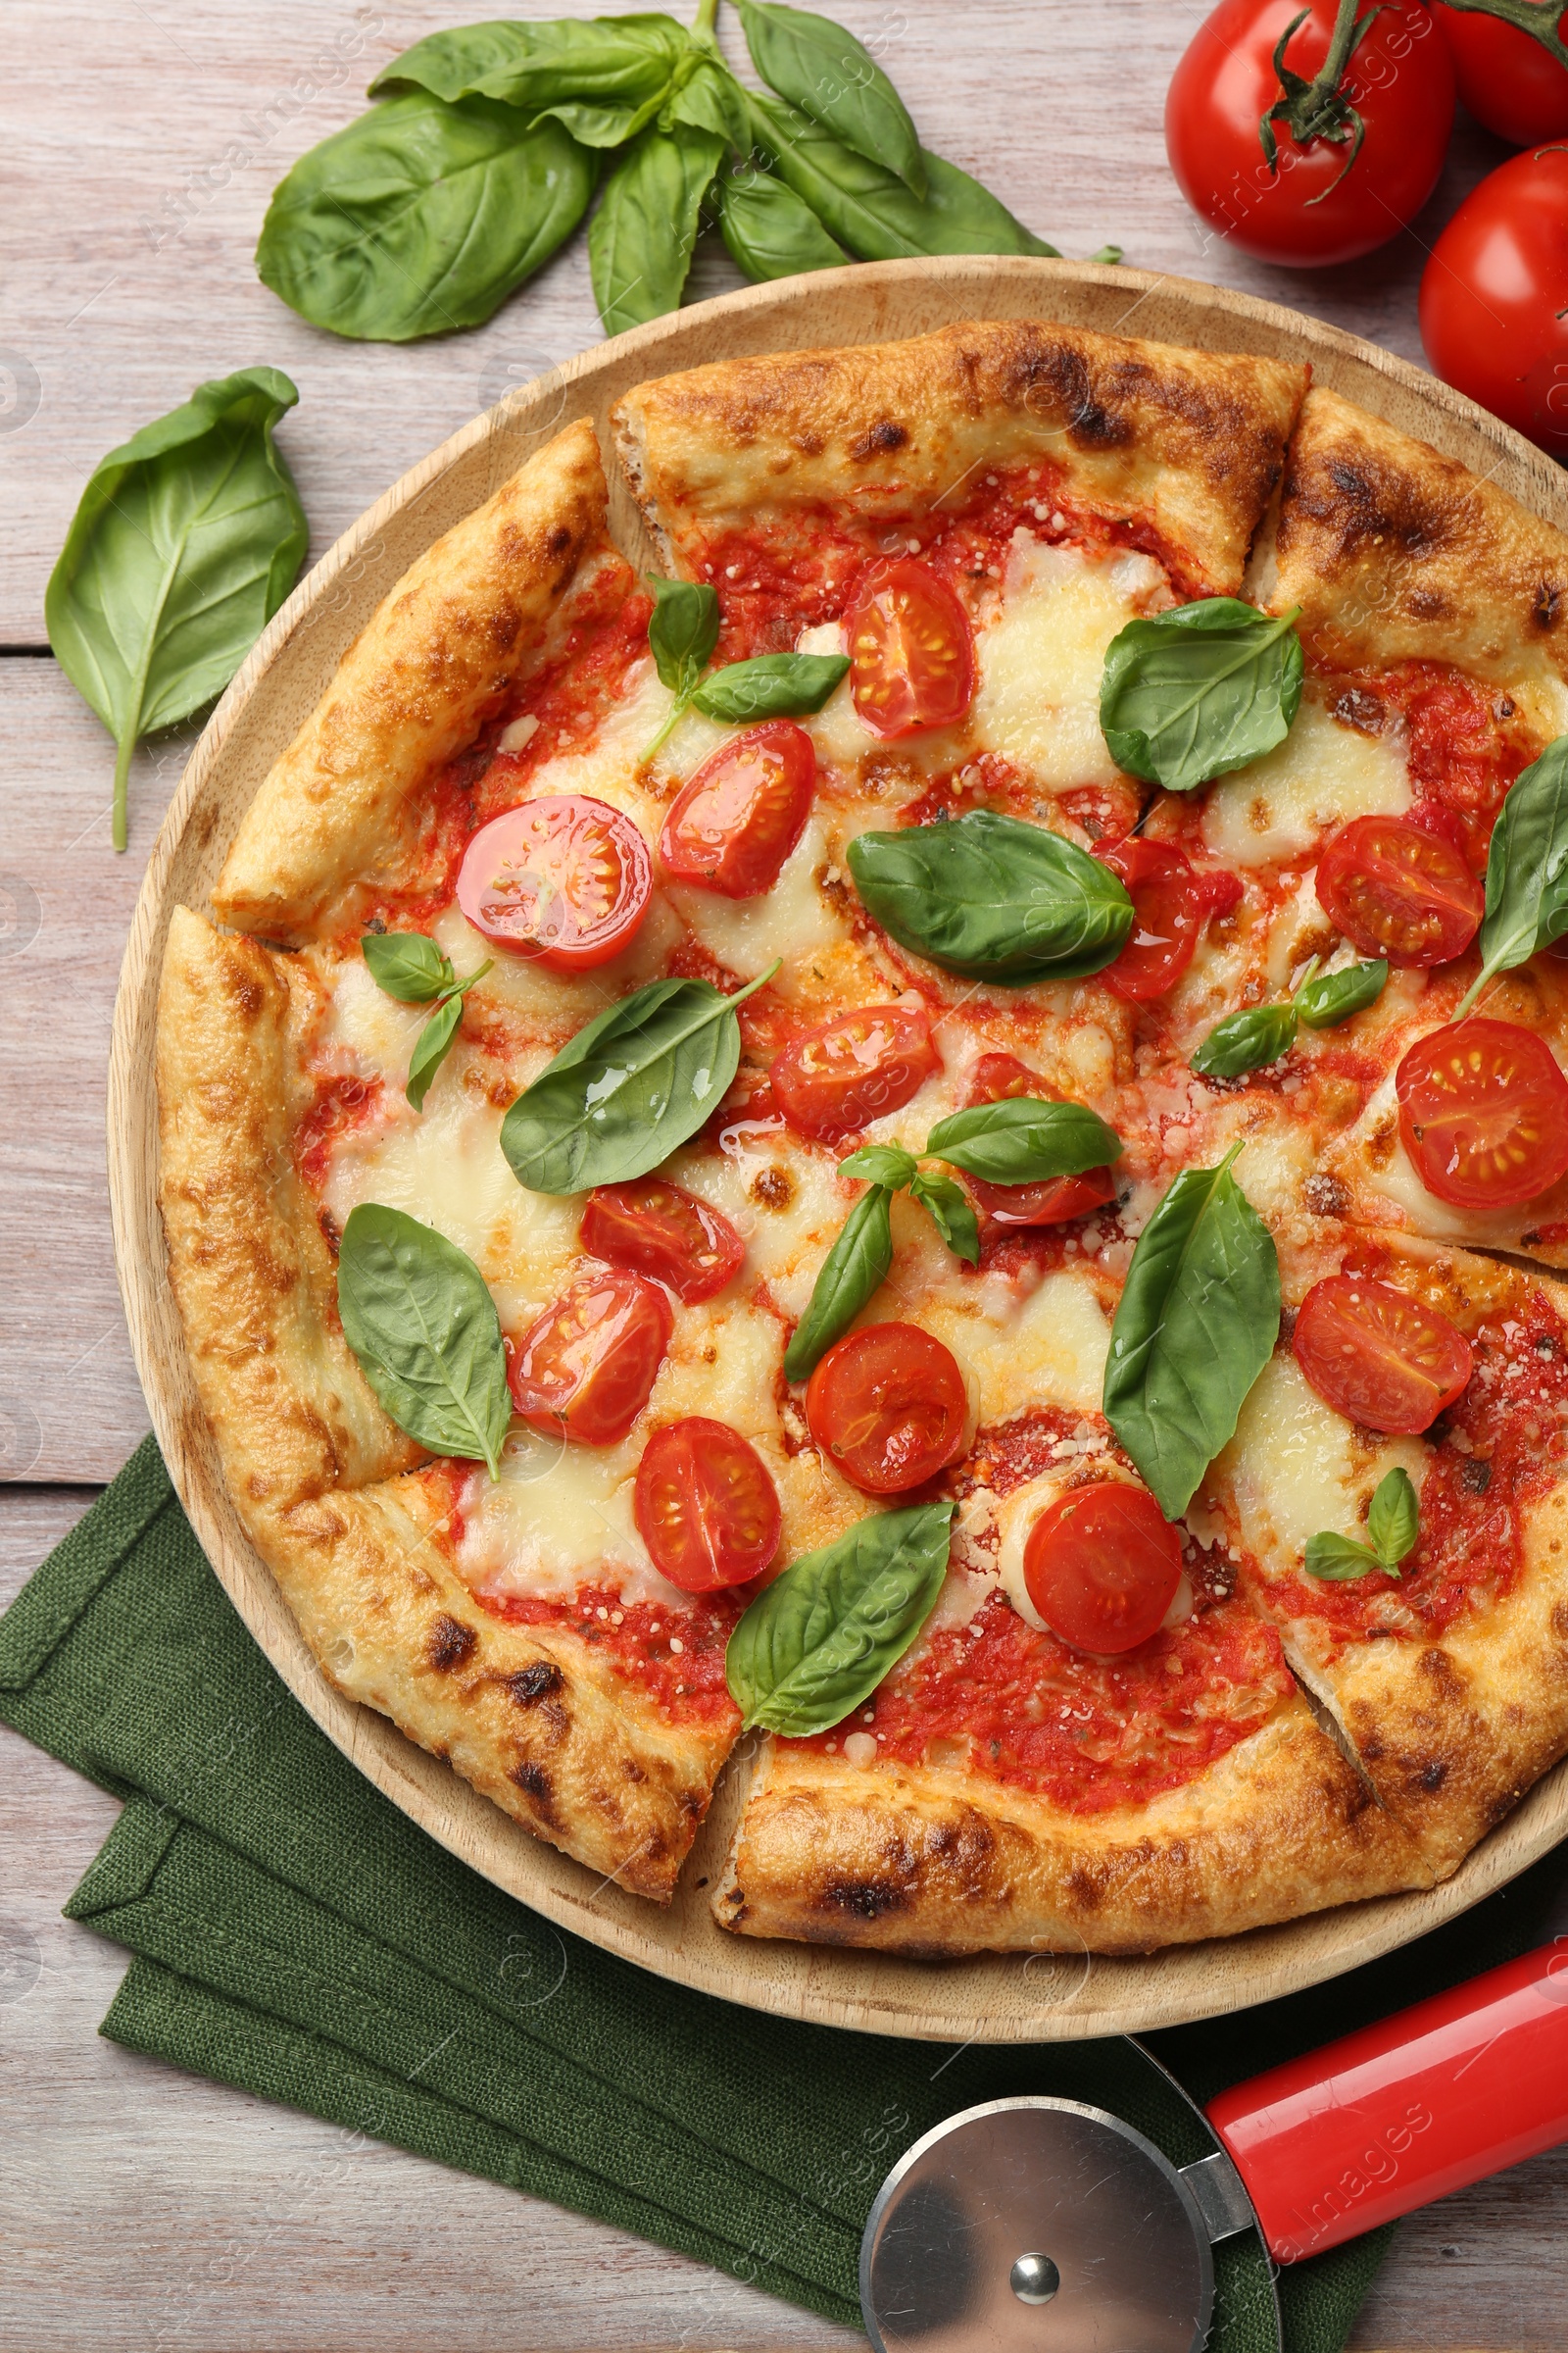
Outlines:
MULTIPOLYGON (((1114 240, 1133 264, 1248 287, 1418 362, 1425 247, 1505 160, 1462 122, 1408 233, 1352 268, 1267 271, 1201 235, 1166 169, 1161 104, 1192 0, 837 0, 837 14, 926 141, 1063 252, 1114 240)), ((299 384, 280 440, 320 555, 510 384, 599 339, 581 238, 482 332, 407 348, 317 334, 254 275, 287 165, 357 113, 383 59, 449 21, 463 9, 430 0, 5 5, 0 1602, 148 1426, 108 1245, 103 1073, 129 911, 193 739, 139 753, 132 847, 113 856, 113 753, 49 659, 45 579, 94 461, 202 376, 270 362, 299 384)), ((698 252, 693 294, 733 282, 722 249, 698 252)), ((101 2042, 122 1955, 59 1908, 113 1800, 0 1744, 5 2353, 860 2344, 576 2214, 101 2042)), ((1561 2348, 1566 2226, 1568 2148, 1429 2207, 1401 2226, 1352 2344, 1561 2348)))

